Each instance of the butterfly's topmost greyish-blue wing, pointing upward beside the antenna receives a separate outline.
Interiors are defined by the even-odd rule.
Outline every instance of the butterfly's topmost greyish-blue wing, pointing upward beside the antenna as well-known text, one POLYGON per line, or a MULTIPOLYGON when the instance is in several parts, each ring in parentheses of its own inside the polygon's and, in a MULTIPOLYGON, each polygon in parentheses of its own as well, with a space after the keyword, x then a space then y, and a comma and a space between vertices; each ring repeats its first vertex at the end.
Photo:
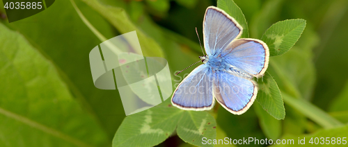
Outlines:
POLYGON ((207 55, 219 55, 223 49, 242 35, 242 26, 225 11, 209 6, 203 21, 203 38, 207 55))

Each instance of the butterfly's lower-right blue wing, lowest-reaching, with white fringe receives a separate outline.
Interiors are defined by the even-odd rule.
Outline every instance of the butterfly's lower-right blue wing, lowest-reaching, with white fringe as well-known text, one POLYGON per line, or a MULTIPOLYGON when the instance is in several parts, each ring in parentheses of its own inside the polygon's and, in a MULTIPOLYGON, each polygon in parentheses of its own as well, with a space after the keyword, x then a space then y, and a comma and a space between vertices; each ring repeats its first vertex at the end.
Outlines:
POLYGON ((256 84, 223 71, 214 73, 214 97, 232 114, 243 114, 255 101, 256 84))

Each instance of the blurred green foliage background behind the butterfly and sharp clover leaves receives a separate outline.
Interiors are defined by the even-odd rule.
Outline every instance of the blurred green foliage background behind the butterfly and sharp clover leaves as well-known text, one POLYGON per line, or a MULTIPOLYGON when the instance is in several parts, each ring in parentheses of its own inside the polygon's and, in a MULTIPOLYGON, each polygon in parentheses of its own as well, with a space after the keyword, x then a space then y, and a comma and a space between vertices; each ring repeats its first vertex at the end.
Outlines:
MULTIPOLYGON (((205 9, 216 6, 216 0, 74 3, 106 40, 136 30, 142 48, 148 51, 144 54, 166 58, 171 73, 199 60, 202 53, 195 27, 203 40, 205 9)), ((306 19, 306 29, 295 46, 270 59, 278 63, 283 76, 273 67, 268 71, 282 92, 303 98, 347 124, 348 1, 235 3, 246 17, 251 38, 260 39, 277 21, 306 19)), ((103 37, 88 28, 69 0, 55 1, 47 10, 10 24, 2 3, 0 13, 0 146, 111 146, 125 112, 117 91, 94 87, 88 60, 90 50, 103 37)), ((218 131, 218 137, 226 133, 232 139, 296 139, 325 129, 286 101, 285 112, 285 119, 272 129, 262 126, 268 121, 258 118, 254 106, 241 116, 220 107, 216 122, 223 132, 218 131)), ((159 146, 189 144, 173 135, 159 146)))

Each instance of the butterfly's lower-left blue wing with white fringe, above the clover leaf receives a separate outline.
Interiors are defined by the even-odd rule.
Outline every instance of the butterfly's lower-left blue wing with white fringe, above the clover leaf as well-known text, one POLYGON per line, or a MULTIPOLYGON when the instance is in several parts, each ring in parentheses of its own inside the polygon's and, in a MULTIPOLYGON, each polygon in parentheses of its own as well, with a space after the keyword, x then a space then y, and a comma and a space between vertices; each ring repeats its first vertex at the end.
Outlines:
POLYGON ((212 83, 212 70, 202 64, 182 80, 171 101, 182 110, 210 110, 214 106, 212 83))

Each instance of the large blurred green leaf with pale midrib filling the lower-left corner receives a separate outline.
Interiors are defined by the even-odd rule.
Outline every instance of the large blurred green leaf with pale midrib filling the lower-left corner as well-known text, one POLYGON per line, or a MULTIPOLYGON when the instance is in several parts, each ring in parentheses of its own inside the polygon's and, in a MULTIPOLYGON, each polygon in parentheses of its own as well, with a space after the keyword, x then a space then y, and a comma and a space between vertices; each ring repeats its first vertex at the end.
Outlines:
POLYGON ((0 24, 0 144, 106 146, 106 133, 22 35, 0 24), (15 133, 14 133, 15 132, 15 133))

